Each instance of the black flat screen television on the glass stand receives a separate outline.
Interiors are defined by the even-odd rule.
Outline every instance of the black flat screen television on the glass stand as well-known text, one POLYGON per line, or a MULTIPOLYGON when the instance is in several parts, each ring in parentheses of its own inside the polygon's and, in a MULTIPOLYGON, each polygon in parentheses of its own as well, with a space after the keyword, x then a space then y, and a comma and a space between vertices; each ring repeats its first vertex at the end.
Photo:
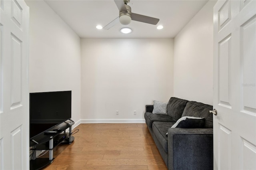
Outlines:
POLYGON ((71 91, 30 93, 30 138, 71 119, 71 91))

